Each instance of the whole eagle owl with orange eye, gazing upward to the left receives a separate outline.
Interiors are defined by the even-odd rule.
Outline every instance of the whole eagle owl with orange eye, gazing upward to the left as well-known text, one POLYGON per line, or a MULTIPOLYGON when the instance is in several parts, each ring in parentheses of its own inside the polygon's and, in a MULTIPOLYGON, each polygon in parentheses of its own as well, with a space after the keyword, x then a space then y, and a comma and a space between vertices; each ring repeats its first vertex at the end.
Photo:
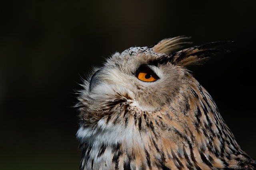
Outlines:
POLYGON ((188 37, 115 53, 78 91, 80 170, 253 170, 187 66, 225 50, 188 37), (180 51, 179 51, 180 50, 180 51))

